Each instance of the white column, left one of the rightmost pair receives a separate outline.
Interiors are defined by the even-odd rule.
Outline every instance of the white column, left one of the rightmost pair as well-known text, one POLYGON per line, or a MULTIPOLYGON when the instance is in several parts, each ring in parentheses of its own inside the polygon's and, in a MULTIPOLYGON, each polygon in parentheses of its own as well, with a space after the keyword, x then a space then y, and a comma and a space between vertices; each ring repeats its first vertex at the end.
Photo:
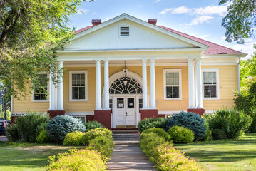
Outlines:
POLYGON ((188 59, 188 108, 195 108, 195 78, 193 59, 188 59))

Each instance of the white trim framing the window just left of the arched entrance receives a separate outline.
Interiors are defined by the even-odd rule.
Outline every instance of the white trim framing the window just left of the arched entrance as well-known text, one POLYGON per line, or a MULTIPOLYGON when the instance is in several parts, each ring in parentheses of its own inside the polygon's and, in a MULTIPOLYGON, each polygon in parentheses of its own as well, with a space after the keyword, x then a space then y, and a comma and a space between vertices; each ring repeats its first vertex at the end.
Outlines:
POLYGON ((69 101, 70 102, 79 102, 79 101, 88 101, 88 81, 87 81, 87 70, 80 70, 80 71, 69 71, 69 101), (73 73, 84 73, 84 79, 85 79, 85 99, 72 99, 72 74, 73 73))

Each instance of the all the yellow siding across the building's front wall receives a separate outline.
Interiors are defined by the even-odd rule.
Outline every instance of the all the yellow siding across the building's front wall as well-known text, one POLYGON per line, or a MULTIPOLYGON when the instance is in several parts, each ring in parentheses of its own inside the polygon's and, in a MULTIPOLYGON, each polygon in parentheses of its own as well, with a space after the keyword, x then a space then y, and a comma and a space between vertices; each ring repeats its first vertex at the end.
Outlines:
MULTIPOLYGON (((133 71, 142 76, 141 66, 128 66, 128 71, 133 71)), ((203 100, 205 110, 215 110, 221 107, 232 107, 234 93, 237 90, 237 66, 202 66, 202 68, 219 68, 220 72, 220 100, 203 100)), ((123 67, 110 67, 109 76, 123 67)), ((150 67, 148 71, 148 91, 150 93, 150 67)), ((104 83, 104 68, 101 67, 101 90, 104 83)), ((188 108, 188 66, 155 66, 155 88, 156 101, 159 111, 187 110, 188 108), (182 100, 163 100, 163 69, 182 69, 182 100)), ((101 91, 102 93, 102 91, 101 91)), ((150 94, 149 94, 150 95, 150 94)), ((149 99, 150 100, 150 99, 149 99)), ((21 101, 13 100, 13 113, 24 113, 26 110, 36 110, 46 112, 49 108, 48 102, 31 102, 31 95, 22 98, 21 101)), ((66 112, 92 112, 96 108, 96 68, 79 67, 66 68, 63 75, 63 108, 66 112), (87 70, 88 71, 88 101, 70 102, 69 101, 69 71, 87 70)))

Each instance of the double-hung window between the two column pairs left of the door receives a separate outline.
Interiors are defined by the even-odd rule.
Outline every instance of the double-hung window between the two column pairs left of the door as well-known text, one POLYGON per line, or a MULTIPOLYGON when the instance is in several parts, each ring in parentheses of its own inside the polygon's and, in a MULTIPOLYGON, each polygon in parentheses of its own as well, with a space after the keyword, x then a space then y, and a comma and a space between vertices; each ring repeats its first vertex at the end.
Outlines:
POLYGON ((88 100, 87 71, 69 71, 69 100, 88 100))

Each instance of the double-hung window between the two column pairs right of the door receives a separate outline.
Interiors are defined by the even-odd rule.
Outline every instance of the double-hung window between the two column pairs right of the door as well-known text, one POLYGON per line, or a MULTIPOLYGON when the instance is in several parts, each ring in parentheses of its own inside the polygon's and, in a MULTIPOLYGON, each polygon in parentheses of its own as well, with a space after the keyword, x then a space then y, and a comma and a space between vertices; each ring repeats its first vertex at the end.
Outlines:
POLYGON ((164 100, 181 100, 181 69, 163 70, 164 100))

